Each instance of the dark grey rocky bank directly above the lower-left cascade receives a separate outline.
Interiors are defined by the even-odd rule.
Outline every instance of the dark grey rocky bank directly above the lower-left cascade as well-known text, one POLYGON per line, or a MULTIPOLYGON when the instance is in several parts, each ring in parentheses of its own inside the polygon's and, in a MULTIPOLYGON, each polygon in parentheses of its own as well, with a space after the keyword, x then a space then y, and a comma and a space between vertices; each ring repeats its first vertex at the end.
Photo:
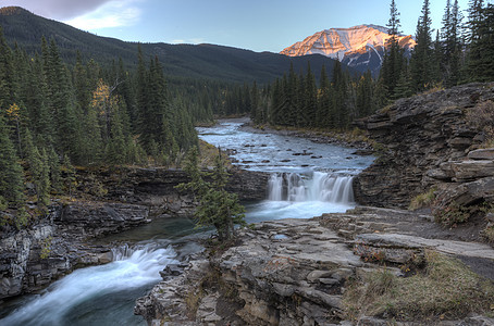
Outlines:
POLYGON ((38 291, 83 266, 111 262, 111 248, 88 239, 148 222, 143 205, 71 202, 36 225, 0 235, 0 299, 38 291))

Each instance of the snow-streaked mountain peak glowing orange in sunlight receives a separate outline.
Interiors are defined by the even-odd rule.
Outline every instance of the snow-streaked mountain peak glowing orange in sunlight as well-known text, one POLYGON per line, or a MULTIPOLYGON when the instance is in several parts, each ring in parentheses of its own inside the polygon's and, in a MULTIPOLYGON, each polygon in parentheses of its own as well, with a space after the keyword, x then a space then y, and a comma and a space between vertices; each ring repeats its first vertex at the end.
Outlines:
MULTIPOLYGON (((376 25, 359 25, 350 28, 331 28, 318 32, 300 42, 284 49, 281 54, 301 57, 322 54, 337 59, 360 72, 378 73, 384 54, 384 45, 391 38, 387 28, 376 25)), ((411 35, 400 35, 399 45, 407 55, 416 46, 411 35)))

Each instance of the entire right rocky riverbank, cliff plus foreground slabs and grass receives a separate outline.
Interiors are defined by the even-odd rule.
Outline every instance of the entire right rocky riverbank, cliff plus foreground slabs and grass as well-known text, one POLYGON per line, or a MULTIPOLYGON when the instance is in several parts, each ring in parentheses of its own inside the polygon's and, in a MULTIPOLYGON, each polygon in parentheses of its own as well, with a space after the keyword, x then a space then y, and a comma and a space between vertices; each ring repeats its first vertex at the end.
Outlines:
POLYGON ((164 273, 135 312, 151 325, 494 325, 494 250, 479 242, 494 239, 493 101, 493 85, 471 84, 359 121, 379 158, 357 202, 397 209, 258 224, 164 273))

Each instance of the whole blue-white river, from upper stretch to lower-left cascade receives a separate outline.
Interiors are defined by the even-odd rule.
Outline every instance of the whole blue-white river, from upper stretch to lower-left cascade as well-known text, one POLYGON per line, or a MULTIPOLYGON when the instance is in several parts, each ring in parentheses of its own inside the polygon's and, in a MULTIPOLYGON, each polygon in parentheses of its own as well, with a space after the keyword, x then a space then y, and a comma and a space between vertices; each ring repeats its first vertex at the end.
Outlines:
MULTIPOLYGON (((355 206, 353 177, 372 163, 354 149, 276 134, 256 133, 242 121, 223 121, 198 128, 200 138, 229 150, 242 168, 271 173, 269 197, 246 203, 246 220, 255 223, 286 217, 308 218, 355 206)), ((114 249, 114 261, 81 268, 39 294, 0 305, 0 325, 147 325, 133 314, 135 300, 161 280, 166 264, 201 250, 192 220, 157 220, 106 238, 128 242, 114 249), (9 313, 8 313, 9 312, 9 313)))

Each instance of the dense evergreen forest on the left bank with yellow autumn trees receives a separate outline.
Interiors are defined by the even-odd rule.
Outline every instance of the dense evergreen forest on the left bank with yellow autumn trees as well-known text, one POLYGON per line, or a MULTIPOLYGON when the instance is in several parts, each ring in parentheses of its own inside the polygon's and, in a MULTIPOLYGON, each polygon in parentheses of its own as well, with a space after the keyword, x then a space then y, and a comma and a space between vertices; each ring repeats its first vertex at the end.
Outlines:
POLYGON ((140 48, 136 55, 135 72, 122 60, 100 66, 81 55, 69 66, 53 40, 42 38, 39 54, 28 55, 0 29, 3 222, 22 226, 26 200, 42 210, 51 195, 70 192, 74 165, 170 166, 197 146, 197 105, 172 93, 157 58, 145 59, 140 48))

